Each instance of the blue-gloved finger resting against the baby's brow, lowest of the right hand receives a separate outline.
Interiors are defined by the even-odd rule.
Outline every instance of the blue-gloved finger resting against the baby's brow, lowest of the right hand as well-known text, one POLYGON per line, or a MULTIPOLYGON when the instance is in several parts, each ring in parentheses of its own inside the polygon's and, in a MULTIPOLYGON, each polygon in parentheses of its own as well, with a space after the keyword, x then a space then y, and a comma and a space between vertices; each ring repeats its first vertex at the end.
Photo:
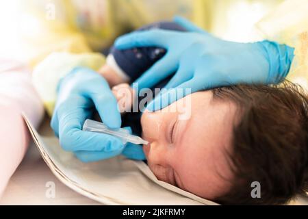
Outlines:
POLYGON ((181 83, 177 88, 168 89, 166 92, 159 93, 159 95, 146 106, 146 110, 150 112, 162 110, 164 107, 167 107, 184 96, 192 94, 192 92, 195 92, 195 89, 196 87, 192 83, 192 79, 181 83))

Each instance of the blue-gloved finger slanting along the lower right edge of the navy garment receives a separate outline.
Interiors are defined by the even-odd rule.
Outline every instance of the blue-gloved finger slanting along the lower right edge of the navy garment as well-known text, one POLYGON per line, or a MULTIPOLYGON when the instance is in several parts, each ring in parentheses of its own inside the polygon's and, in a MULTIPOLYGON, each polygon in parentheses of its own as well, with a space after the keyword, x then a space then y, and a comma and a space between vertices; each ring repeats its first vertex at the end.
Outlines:
POLYGON ((146 70, 134 83, 138 88, 152 88, 162 79, 165 79, 177 70, 177 60, 168 53, 156 62, 149 70, 146 70))

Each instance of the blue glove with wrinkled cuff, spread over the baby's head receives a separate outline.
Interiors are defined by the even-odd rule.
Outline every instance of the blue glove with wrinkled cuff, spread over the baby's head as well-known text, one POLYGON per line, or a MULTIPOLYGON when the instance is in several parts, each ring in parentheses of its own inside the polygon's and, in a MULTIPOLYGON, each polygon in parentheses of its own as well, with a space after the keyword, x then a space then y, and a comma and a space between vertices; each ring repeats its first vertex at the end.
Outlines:
MULTIPOLYGON (((153 29, 136 31, 116 40, 117 49, 162 47, 166 55, 139 79, 138 88, 151 88, 172 73, 166 88, 191 92, 238 83, 278 83, 287 75, 294 49, 276 42, 239 43, 220 40, 181 17, 174 21, 188 32, 153 29)), ((178 90, 161 92, 147 106, 160 110, 181 98, 178 90), (179 96, 179 97, 178 97, 179 96)), ((190 92, 184 92, 184 96, 190 92)))

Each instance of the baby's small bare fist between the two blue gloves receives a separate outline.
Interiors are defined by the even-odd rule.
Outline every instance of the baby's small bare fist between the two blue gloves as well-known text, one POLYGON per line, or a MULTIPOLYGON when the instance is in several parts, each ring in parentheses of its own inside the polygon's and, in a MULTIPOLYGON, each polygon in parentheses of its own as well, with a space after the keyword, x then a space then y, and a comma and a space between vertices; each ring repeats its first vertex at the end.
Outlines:
POLYGON ((128 83, 120 83, 112 88, 112 93, 116 96, 120 113, 131 112, 135 98, 135 90, 128 83))

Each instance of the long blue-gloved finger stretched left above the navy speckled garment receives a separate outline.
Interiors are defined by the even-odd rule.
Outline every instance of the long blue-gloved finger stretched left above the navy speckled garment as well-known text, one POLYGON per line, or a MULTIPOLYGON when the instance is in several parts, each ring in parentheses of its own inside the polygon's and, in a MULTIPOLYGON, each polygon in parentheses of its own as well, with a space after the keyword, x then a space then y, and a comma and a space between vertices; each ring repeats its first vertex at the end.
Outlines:
POLYGON ((116 49, 131 49, 133 47, 161 47, 168 49, 168 42, 176 31, 164 29, 150 29, 125 34, 116 39, 116 49))

